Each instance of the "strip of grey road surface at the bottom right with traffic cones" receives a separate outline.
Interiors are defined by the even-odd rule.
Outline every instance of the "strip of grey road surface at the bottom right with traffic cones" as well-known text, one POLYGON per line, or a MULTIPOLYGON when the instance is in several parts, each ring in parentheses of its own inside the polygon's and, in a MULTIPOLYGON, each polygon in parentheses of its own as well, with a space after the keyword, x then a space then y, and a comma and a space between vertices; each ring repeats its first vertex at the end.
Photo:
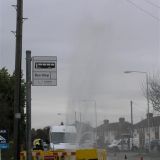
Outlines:
POLYGON ((108 153, 107 160, 160 160, 160 153, 134 153, 134 152, 121 152, 121 153, 108 153), (125 156, 126 155, 126 156, 125 156))

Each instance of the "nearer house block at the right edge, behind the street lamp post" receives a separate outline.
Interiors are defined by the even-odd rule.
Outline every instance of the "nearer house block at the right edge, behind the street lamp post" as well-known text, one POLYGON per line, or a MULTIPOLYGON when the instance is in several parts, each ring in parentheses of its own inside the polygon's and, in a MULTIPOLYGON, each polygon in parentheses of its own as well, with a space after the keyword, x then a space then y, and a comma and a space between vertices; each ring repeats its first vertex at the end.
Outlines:
POLYGON ((139 138, 140 146, 144 147, 150 140, 160 139, 160 116, 153 117, 152 113, 147 114, 146 119, 134 125, 133 136, 139 138), (148 123, 149 117, 149 123, 148 123), (149 127, 148 127, 149 124, 149 127))

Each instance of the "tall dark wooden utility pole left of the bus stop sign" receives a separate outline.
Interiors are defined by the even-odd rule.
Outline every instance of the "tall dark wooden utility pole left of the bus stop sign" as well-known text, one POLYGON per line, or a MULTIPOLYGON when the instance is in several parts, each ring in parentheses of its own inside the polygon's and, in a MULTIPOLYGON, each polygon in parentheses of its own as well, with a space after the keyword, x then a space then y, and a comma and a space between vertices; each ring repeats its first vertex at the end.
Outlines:
POLYGON ((16 49, 15 49, 15 93, 14 93, 14 160, 20 159, 21 121, 21 61, 22 61, 22 22, 23 0, 17 0, 16 49))

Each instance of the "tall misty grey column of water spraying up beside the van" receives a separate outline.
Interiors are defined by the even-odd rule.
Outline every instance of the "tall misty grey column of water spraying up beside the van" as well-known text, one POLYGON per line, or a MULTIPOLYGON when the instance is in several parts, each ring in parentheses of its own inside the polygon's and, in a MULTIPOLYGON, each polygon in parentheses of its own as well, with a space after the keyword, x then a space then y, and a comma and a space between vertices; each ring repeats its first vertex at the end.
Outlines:
POLYGON ((75 38, 67 122, 76 126, 76 143, 80 148, 96 145, 96 94, 103 75, 104 37, 105 25, 87 19, 80 25, 75 38))

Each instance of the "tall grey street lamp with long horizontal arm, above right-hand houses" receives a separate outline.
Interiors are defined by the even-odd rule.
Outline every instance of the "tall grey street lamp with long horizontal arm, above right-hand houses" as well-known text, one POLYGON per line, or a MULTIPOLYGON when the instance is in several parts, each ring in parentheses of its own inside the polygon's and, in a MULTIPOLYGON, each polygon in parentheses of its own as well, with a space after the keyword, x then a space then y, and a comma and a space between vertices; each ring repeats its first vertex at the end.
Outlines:
POLYGON ((142 71, 125 71, 124 73, 142 73, 145 74, 146 76, 146 85, 147 85, 147 125, 148 125, 148 147, 150 151, 150 117, 149 117, 149 86, 148 86, 148 73, 147 72, 142 72, 142 71))

